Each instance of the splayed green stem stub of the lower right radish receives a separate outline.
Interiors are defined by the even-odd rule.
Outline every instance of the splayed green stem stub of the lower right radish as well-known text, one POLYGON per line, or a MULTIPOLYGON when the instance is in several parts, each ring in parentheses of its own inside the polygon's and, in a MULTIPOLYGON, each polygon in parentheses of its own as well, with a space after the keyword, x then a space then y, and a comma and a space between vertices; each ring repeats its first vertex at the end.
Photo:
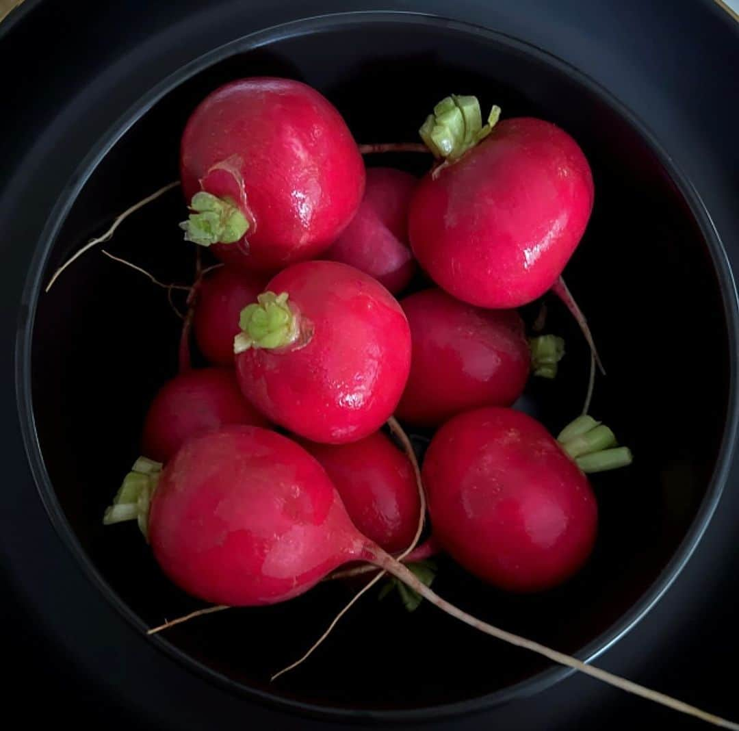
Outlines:
POLYGON ((631 450, 617 446, 616 435, 587 414, 565 426, 557 441, 582 472, 606 472, 633 461, 631 450))

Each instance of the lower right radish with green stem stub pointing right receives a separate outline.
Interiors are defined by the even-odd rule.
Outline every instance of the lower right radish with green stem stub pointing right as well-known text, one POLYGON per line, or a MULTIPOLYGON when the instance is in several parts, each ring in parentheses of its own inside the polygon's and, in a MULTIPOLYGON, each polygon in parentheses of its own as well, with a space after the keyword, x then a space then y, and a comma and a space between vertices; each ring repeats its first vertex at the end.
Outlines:
POLYGON ((434 536, 475 576, 510 591, 539 591, 588 559, 598 509, 582 470, 624 466, 631 456, 610 449, 613 432, 590 417, 559 439, 503 407, 457 415, 432 439, 423 485, 434 536))

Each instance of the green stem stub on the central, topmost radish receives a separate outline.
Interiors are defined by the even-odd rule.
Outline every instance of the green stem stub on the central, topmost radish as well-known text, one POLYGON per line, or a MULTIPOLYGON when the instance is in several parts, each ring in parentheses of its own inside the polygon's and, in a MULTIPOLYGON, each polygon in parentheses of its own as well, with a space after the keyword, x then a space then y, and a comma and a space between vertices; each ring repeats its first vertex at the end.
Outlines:
POLYGON ((234 353, 250 348, 273 350, 290 345, 300 334, 298 316, 287 302, 287 292, 262 292, 239 316, 241 332, 234 338, 234 353))

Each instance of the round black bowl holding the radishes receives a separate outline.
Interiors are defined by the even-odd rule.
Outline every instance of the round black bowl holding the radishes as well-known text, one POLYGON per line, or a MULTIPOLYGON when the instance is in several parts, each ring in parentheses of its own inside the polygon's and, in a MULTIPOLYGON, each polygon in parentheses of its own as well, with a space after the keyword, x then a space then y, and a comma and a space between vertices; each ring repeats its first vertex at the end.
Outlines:
MULTIPOLYGON (((602 88, 544 52, 477 27, 389 13, 326 16, 242 38, 163 81, 99 140, 47 225, 28 282, 21 336, 21 418, 52 522, 103 594, 141 630, 198 606, 157 570, 135 528, 101 516, 137 455, 158 384, 176 367, 179 321, 139 274, 87 254, 50 293, 50 274, 115 214, 177 177, 194 104, 245 75, 316 86, 361 142, 415 140, 449 92, 506 116, 537 115, 576 137, 593 166, 596 206, 568 266, 607 378, 591 412, 636 454, 593 478, 601 512, 592 558, 537 596, 494 591, 442 561, 436 588, 477 616, 592 659, 648 611, 681 570, 718 500, 735 433, 736 301, 723 249, 689 183, 644 126, 602 88)), ((372 163, 422 171, 427 160, 372 163)), ((483 185, 484 181, 480 181, 483 185)), ((194 253, 171 191, 134 215, 109 247, 165 281, 186 282, 194 253)), ((556 303, 549 328, 568 340, 554 383, 528 402, 552 429, 579 412, 588 353, 556 303)), ((533 693, 568 672, 483 638, 423 605, 407 615, 369 596, 321 650, 270 684, 350 596, 326 585, 273 608, 228 611, 151 641, 234 690, 304 713, 427 718, 533 693)))

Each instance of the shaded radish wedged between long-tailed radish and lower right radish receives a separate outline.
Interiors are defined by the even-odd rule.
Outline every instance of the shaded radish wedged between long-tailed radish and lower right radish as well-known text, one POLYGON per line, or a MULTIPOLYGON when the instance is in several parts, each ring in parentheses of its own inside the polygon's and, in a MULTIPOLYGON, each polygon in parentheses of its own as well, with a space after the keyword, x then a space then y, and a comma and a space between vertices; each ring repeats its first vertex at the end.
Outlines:
POLYGON ((354 525, 389 553, 411 545, 420 500, 409 459, 382 432, 350 444, 302 446, 321 463, 354 525))

